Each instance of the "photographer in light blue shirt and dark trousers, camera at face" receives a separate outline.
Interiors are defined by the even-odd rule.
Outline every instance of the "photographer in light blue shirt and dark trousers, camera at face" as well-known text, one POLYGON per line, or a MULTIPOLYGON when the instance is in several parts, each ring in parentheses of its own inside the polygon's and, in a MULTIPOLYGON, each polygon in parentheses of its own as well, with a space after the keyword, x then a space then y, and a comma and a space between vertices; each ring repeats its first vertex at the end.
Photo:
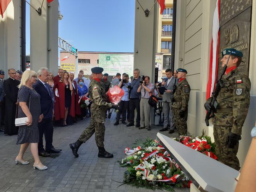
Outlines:
POLYGON ((122 123, 124 125, 126 125, 127 123, 125 122, 126 120, 126 111, 127 108, 129 106, 129 89, 128 87, 130 86, 129 83, 129 75, 125 74, 123 76, 123 79, 121 79, 121 82, 118 85, 121 89, 123 89, 123 91, 125 92, 125 94, 123 95, 120 103, 119 103, 119 109, 116 115, 116 122, 114 123, 114 125, 118 125, 119 124, 119 120, 120 120, 120 116, 122 113, 122 123))

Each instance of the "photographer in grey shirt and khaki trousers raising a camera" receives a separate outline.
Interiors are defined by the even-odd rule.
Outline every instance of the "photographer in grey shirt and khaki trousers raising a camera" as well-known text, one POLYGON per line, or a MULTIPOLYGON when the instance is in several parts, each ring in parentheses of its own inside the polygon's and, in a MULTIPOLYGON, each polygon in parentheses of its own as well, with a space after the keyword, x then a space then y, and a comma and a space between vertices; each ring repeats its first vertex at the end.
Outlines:
POLYGON ((145 76, 144 80, 140 84, 137 92, 141 92, 140 99, 140 127, 138 129, 146 128, 148 131, 150 128, 150 113, 151 106, 148 104, 148 99, 150 98, 150 93, 154 94, 154 84, 150 83, 150 78, 145 76))

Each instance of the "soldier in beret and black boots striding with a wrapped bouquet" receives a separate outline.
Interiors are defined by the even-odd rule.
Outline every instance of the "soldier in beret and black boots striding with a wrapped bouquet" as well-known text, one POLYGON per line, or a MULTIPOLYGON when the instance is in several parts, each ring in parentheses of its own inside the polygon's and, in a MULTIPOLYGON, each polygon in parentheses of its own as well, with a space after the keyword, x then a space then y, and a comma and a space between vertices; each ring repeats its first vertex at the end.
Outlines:
POLYGON ((108 103, 109 99, 106 95, 103 84, 101 84, 103 68, 93 67, 91 69, 93 79, 89 84, 89 95, 92 101, 91 104, 91 121, 88 128, 86 128, 79 139, 75 143, 69 144, 72 153, 78 157, 77 151, 79 147, 85 143, 95 132, 96 144, 99 148, 98 157, 112 158, 113 154, 106 152, 104 148, 104 135, 105 135, 105 114, 109 108, 118 109, 118 105, 108 103))

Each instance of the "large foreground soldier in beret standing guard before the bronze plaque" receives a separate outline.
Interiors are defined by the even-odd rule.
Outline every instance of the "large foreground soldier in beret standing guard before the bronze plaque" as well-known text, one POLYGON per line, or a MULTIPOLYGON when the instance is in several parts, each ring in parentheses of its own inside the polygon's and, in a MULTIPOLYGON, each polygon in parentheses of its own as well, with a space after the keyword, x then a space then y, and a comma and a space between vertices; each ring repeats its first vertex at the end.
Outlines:
MULTIPOLYGON (((226 64, 230 53, 226 73, 222 77, 222 87, 217 96, 218 107, 212 118, 212 124, 218 160, 239 170, 236 154, 249 109, 251 82, 248 76, 237 69, 243 57, 242 52, 236 49, 223 50, 222 67, 226 64)), ((207 99, 204 105, 207 111, 211 108, 210 101, 211 98, 207 99)))

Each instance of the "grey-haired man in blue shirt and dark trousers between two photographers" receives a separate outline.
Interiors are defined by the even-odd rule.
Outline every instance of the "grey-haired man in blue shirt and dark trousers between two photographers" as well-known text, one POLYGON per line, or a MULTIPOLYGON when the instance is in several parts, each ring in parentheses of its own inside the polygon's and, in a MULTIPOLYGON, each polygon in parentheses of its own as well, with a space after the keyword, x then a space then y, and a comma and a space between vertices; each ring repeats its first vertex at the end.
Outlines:
POLYGON ((136 127, 140 126, 140 93, 137 92, 140 86, 140 70, 133 70, 133 80, 131 81, 131 86, 128 87, 130 89, 130 101, 129 101, 129 109, 130 109, 130 123, 126 126, 134 126, 134 110, 136 108, 137 117, 136 117, 136 127))

